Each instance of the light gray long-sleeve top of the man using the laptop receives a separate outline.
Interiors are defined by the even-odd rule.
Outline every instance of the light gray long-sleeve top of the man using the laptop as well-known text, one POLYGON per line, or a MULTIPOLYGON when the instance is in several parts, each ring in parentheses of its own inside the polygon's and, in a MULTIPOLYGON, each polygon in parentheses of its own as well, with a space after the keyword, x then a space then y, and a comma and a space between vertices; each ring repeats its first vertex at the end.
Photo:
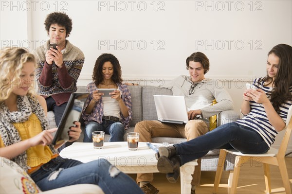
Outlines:
POLYGON ((219 81, 204 79, 198 82, 194 93, 189 94, 192 84, 190 76, 180 75, 165 87, 171 89, 173 95, 185 97, 188 111, 201 109, 202 119, 217 115, 224 110, 233 110, 232 98, 219 81), (214 99, 217 104, 212 106, 214 99))

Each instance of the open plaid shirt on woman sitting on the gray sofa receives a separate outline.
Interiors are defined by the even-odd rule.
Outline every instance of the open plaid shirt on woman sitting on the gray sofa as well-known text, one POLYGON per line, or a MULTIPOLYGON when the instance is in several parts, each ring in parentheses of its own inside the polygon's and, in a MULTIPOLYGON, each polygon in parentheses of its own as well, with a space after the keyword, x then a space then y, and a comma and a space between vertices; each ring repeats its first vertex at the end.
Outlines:
MULTIPOLYGON (((128 114, 129 116, 127 118, 125 118, 121 112, 121 118, 122 118, 122 123, 125 126, 125 129, 128 129, 130 127, 129 123, 132 120, 132 102, 131 102, 131 93, 128 89, 128 87, 125 84, 117 84, 121 94, 122 94, 122 100, 124 101, 125 105, 128 108, 128 114)), ((103 116, 103 103, 102 103, 102 98, 96 102, 95 106, 93 107, 93 110, 91 112, 91 114, 86 114, 85 113, 85 108, 89 105, 89 103, 91 102, 92 99, 92 93, 93 91, 97 89, 97 87, 95 86, 94 82, 91 82, 87 85, 87 91, 90 93, 84 108, 83 108, 83 113, 82 113, 82 118, 85 120, 85 124, 91 122, 91 121, 95 121, 97 123, 102 123, 102 116, 103 116)))

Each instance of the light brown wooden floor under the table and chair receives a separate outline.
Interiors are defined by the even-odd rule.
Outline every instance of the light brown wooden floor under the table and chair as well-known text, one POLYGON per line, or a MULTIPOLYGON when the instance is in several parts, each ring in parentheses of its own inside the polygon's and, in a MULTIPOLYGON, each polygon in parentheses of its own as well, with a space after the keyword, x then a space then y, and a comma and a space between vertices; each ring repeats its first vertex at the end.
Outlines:
MULTIPOLYGON (((289 180, 292 186, 292 157, 285 158, 289 180)), ((278 166, 270 165, 271 187, 273 194, 285 194, 282 178, 278 166)), ((216 172, 202 172, 201 184, 196 189, 196 194, 212 194, 216 172)), ((130 175, 136 180, 136 174, 130 175)), ((228 194, 228 173, 223 171, 217 194, 228 194)), ((180 194, 180 181, 176 184, 169 183, 165 174, 155 173, 152 184, 160 190, 159 194, 180 194)), ((266 194, 264 170, 262 163, 246 162, 240 170, 237 185, 237 194, 266 194)))

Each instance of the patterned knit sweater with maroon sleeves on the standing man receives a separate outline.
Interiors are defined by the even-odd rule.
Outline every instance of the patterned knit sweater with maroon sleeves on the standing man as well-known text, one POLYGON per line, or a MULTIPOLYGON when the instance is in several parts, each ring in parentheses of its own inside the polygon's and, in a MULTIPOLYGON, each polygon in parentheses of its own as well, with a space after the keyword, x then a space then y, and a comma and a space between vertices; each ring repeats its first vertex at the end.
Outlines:
POLYGON ((84 54, 66 40, 66 48, 62 50, 63 66, 58 68, 55 63, 48 65, 45 54, 49 43, 50 40, 34 52, 37 59, 37 94, 44 98, 52 96, 56 105, 60 106, 68 102, 71 93, 77 90, 76 82, 83 67, 84 54))

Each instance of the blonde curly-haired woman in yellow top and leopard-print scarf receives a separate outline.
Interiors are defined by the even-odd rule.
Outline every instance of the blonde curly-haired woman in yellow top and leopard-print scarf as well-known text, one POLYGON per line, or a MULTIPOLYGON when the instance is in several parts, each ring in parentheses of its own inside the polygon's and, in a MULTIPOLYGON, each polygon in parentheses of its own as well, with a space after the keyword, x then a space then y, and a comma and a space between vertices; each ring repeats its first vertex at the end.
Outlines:
MULTIPOLYGON (((36 62, 33 54, 18 48, 0 52, 0 157, 22 167, 42 191, 76 184, 95 184, 108 194, 143 194, 134 180, 107 160, 82 163, 64 159, 52 145, 46 102, 34 95, 36 62), (114 172, 114 173, 113 173, 114 172)), ((71 127, 70 141, 80 137, 80 123, 71 127)))

